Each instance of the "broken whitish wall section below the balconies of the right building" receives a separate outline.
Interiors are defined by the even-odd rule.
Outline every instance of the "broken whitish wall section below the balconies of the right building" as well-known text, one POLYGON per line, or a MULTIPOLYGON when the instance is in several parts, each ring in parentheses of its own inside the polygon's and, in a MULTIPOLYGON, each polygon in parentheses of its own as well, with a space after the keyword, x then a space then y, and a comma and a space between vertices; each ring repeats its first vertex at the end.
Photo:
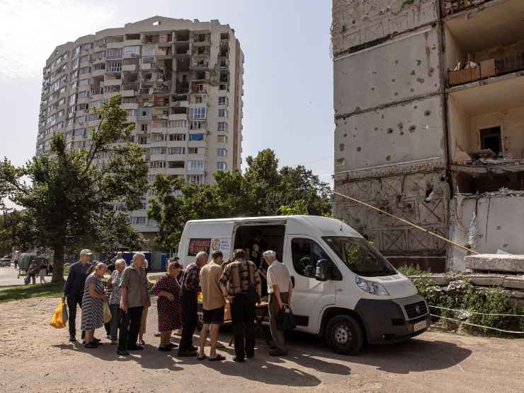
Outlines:
MULTIPOLYGON (((491 193, 480 197, 457 195, 453 201, 452 239, 467 244, 472 214, 477 211, 477 245, 481 254, 493 254, 503 249, 512 254, 524 254, 524 192, 516 196, 491 193)), ((452 270, 463 270, 465 252, 453 247, 452 270)))

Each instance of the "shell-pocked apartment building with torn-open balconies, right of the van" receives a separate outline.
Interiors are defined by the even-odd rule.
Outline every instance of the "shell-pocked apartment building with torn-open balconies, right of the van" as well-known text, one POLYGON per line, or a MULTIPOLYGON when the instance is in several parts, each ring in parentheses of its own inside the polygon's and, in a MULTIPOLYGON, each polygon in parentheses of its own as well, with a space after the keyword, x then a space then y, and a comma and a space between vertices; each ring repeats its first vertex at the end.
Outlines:
MULTIPOLYGON (((481 253, 524 254, 524 1, 334 0, 337 192, 481 253)), ((343 197, 394 264, 465 252, 343 197)))

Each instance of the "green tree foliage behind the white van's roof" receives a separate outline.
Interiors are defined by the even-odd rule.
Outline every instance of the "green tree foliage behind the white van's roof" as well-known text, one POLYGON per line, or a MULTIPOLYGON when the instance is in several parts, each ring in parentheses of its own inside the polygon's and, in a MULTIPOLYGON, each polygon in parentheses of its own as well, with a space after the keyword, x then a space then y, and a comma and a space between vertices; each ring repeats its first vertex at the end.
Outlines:
POLYGON ((188 220, 287 214, 322 216, 331 211, 329 184, 299 165, 278 169, 275 153, 266 149, 246 159, 242 173, 216 172, 215 184, 197 186, 177 177, 157 175, 156 197, 149 202, 149 218, 159 223, 156 247, 178 247, 188 220))

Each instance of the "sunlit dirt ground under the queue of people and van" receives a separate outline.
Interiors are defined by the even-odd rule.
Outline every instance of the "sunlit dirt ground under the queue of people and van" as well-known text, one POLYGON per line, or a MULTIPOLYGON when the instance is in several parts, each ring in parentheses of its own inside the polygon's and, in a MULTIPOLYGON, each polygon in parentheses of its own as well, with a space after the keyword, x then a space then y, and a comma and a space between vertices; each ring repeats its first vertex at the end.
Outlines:
MULTIPOLYGON (((524 392, 524 340, 428 332, 340 356, 321 339, 295 333, 287 358, 268 356, 259 336, 256 358, 247 363, 234 363, 229 347, 223 363, 198 362, 156 350, 153 304, 146 349, 119 358, 106 339, 98 349, 69 344, 67 329, 49 325, 57 304, 0 304, 0 392, 524 392)), ((221 334, 226 344, 230 337, 229 329, 221 334)))

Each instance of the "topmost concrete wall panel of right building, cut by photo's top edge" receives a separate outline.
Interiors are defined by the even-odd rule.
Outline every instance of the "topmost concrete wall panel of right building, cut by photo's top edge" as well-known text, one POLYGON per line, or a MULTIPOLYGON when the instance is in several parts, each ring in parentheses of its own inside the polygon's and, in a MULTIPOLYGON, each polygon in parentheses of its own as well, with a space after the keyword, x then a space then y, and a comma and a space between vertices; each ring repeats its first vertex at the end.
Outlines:
POLYGON ((438 0, 334 0, 333 53, 438 20, 438 0))

